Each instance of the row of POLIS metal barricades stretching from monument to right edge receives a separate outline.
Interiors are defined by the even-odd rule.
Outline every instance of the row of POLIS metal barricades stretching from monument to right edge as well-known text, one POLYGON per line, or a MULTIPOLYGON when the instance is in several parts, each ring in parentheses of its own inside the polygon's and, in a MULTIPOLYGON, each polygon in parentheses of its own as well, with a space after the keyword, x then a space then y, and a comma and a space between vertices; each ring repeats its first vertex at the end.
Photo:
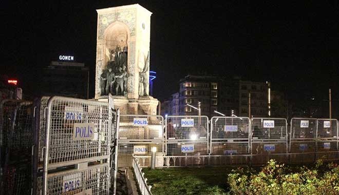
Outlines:
POLYGON ((157 156, 233 155, 239 164, 265 163, 271 157, 296 163, 324 155, 338 158, 335 119, 292 118, 288 126, 283 118, 214 116, 209 120, 184 115, 164 120, 160 115, 121 115, 119 126, 119 166, 130 166, 131 154, 150 155, 154 147, 157 156))

